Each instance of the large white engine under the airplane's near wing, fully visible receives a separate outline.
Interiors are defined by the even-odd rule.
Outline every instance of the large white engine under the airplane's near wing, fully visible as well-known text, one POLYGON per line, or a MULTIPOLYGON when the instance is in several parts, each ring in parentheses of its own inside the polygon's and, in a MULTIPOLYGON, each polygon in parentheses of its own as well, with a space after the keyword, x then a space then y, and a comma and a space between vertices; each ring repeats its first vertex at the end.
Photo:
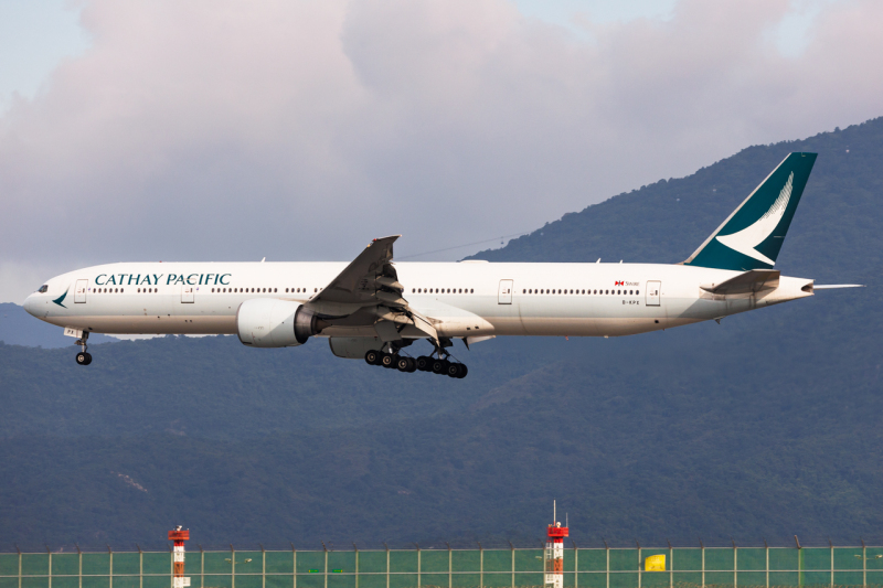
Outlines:
POLYGON ((325 327, 325 321, 312 311, 290 300, 254 298, 236 310, 240 341, 254 348, 302 345, 325 327))

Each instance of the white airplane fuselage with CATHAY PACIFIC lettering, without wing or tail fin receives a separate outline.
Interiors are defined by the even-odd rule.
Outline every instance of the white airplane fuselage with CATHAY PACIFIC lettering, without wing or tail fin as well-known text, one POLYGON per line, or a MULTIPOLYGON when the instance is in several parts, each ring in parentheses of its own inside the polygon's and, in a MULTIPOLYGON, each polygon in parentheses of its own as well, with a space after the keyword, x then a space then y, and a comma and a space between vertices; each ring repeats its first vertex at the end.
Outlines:
MULTIPOLYGON (((150 263, 94 266, 51 279, 25 301, 34 317, 97 333, 236 333, 245 300, 308 303, 345 263, 150 263)), ((449 338, 616 336, 717 319, 812 295, 783 277, 763 293, 712 296, 700 285, 738 271, 656 264, 396 263, 403 298, 449 338)), ((373 336, 372 323, 321 336, 373 336)), ((418 333, 417 333, 418 334, 418 333)), ((415 334, 414 336, 417 336, 415 334)), ((409 336, 404 333, 404 336, 409 336)))

